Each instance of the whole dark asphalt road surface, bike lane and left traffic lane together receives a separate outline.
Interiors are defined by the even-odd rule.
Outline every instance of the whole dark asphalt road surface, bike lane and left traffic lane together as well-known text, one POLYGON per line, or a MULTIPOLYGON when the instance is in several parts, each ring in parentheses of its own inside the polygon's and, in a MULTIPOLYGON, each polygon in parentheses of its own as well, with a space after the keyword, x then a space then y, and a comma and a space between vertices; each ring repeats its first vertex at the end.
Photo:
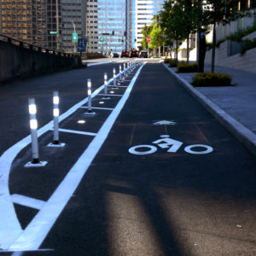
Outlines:
MULTIPOLYGON (((27 96, 36 97, 41 127, 51 119, 53 88, 64 113, 86 96, 86 78, 96 90, 118 66, 0 88, 1 154, 29 133, 27 96)), ((109 100, 93 98, 95 115, 78 108, 61 121, 61 129, 84 132, 61 132, 64 148, 47 147, 51 131, 39 137, 47 166, 24 167, 30 145, 15 156, 8 183, 20 230, 0 231, 2 254, 256 255, 255 157, 161 64, 136 67, 110 91, 109 100)))

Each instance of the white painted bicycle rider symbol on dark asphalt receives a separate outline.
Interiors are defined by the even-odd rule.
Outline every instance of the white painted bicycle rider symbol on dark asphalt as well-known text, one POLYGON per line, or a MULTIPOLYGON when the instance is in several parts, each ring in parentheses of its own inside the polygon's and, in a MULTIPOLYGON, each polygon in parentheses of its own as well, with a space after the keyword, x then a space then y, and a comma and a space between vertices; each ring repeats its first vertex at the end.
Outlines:
MULTIPOLYGON (((167 152, 176 153, 177 150, 183 145, 182 142, 170 138, 169 135, 161 135, 159 140, 154 141, 160 148, 168 148, 167 152)), ((153 154, 157 151, 157 147, 153 145, 137 145, 129 148, 130 154, 153 154), (141 149, 141 150, 138 150, 141 149)), ((209 154, 213 151, 213 148, 204 144, 189 145, 184 148, 184 151, 189 154, 209 154), (193 148, 204 148, 204 150, 196 151, 193 148)))

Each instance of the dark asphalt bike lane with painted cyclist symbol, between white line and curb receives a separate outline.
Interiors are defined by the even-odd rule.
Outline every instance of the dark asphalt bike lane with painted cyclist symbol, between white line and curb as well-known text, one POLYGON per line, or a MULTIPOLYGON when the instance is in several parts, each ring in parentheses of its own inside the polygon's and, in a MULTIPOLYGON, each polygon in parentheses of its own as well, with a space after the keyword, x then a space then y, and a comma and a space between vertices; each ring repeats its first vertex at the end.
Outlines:
POLYGON ((172 75, 148 63, 41 248, 253 255, 255 164, 172 75))

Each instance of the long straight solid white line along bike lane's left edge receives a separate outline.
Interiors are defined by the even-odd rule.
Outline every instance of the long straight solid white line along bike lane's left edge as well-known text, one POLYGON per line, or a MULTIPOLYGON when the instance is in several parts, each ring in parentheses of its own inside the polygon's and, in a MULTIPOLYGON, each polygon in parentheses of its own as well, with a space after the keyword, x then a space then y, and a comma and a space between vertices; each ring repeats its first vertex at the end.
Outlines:
POLYGON ((35 218, 32 219, 32 222, 27 225, 26 230, 21 233, 15 243, 9 247, 10 251, 37 250, 38 247, 40 247, 49 230, 55 224, 55 220, 66 206, 67 201, 69 201, 73 192, 79 186, 79 183, 82 177, 84 177, 84 173, 89 168, 92 160, 95 158, 102 147, 102 144, 108 137, 108 133, 119 116, 121 109, 125 106, 125 102, 130 96, 131 89, 143 66, 138 69, 135 77, 131 80, 131 84, 125 90, 124 96, 113 109, 113 112, 110 113, 96 137, 92 140, 88 148, 85 149, 84 153, 79 157, 79 160, 74 164, 72 169, 67 173, 67 176, 55 190, 54 194, 51 195, 43 209, 38 212, 35 218))

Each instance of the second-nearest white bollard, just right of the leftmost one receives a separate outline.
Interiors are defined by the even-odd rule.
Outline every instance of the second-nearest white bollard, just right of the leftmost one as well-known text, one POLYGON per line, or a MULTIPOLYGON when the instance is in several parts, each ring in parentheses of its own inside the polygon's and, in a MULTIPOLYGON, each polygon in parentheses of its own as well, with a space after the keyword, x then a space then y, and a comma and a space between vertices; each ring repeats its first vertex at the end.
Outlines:
POLYGON ((53 116, 54 116, 54 137, 53 137, 53 143, 49 143, 48 147, 56 147, 61 148, 65 146, 65 143, 59 142, 59 115, 60 115, 60 97, 59 92, 54 91, 53 92, 53 116))

